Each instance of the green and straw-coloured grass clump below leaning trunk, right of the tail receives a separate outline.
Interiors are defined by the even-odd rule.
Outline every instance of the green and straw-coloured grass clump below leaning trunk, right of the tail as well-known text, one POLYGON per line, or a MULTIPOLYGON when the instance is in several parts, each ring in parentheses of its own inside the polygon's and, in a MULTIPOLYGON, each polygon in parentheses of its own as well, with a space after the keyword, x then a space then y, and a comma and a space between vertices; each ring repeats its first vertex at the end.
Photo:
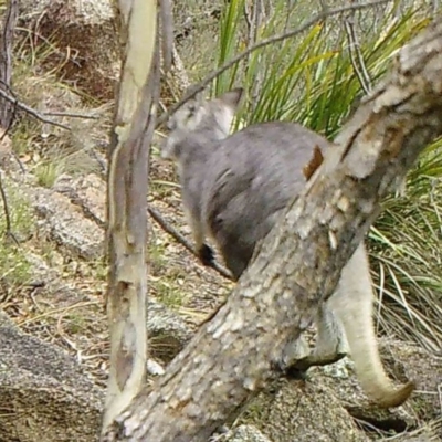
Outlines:
POLYGON ((382 329, 442 347, 442 139, 410 171, 406 194, 389 197, 371 229, 382 329))

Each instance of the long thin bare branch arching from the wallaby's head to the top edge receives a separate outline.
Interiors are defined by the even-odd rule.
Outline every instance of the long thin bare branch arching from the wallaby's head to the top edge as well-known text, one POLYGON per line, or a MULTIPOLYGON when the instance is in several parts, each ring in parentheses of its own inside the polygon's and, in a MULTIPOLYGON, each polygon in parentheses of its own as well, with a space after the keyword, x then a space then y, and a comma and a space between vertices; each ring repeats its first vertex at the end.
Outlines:
POLYGON ((185 103, 187 103, 190 98, 192 98, 194 95, 197 95, 199 92, 203 91, 214 78, 217 78, 219 75, 221 75, 224 71, 232 67, 234 64, 240 62, 241 60, 248 57, 252 52, 269 46, 270 44, 273 43, 278 43, 283 40, 291 39, 297 34, 301 34, 308 28, 313 27, 316 23, 319 23, 327 19, 328 17, 333 15, 339 15, 344 12, 352 11, 352 10, 361 10, 361 9, 367 9, 371 7, 376 7, 378 4, 383 4, 383 3, 389 3, 391 0, 375 0, 370 1, 367 3, 356 3, 356 4, 349 4, 336 9, 328 9, 326 8, 325 10, 322 10, 317 14, 315 14, 311 20, 307 20, 303 25, 299 28, 296 28, 292 31, 284 32, 282 34, 277 34, 274 36, 271 36, 269 39, 265 39, 256 44, 253 44, 252 46, 248 48, 245 51, 240 52, 238 55, 232 57, 229 62, 224 63, 221 67, 212 71, 208 76, 206 76, 200 83, 193 85, 190 87, 182 99, 178 103, 176 103, 173 106, 170 107, 170 109, 166 113, 164 113, 158 119, 157 119, 157 125, 156 127, 161 126, 171 114, 173 114, 176 110, 178 110, 185 103))

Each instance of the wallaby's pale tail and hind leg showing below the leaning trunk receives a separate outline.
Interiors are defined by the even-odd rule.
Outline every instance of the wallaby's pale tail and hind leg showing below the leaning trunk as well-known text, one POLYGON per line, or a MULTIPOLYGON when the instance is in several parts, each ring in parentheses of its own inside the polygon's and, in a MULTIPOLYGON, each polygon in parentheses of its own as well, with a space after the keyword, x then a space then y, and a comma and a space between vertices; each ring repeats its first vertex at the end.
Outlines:
POLYGON ((371 277, 364 244, 344 267, 336 293, 319 308, 317 327, 314 352, 296 361, 291 370, 333 364, 349 349, 364 391, 379 407, 398 407, 408 399, 414 383, 394 388, 380 360, 372 323, 371 277))

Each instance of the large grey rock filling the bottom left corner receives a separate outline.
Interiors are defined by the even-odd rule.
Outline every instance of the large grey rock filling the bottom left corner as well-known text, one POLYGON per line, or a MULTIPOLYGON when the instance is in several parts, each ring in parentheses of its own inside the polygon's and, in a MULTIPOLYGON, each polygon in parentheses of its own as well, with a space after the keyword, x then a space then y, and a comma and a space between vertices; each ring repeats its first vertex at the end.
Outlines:
POLYGON ((0 323, 0 397, 2 442, 97 440, 103 391, 61 349, 8 320, 0 323))

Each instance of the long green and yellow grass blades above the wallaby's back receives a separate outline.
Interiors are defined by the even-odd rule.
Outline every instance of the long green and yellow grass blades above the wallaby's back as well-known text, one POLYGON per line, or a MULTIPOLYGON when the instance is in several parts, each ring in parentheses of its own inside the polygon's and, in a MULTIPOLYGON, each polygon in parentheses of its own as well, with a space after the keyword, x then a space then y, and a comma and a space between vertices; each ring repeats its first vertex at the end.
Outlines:
MULTIPOLYGON (((241 27, 244 2, 236 0, 227 8, 220 32, 220 65, 245 49, 241 27)), ((259 31, 259 41, 281 33, 281 17, 284 14, 277 12, 285 3, 276 2, 276 11, 259 31)), ((295 9, 294 18, 290 20, 291 29, 303 22, 303 15, 296 12, 295 9)), ((333 137, 361 94, 361 87, 348 52, 346 34, 337 32, 339 22, 327 23, 254 51, 242 65, 232 66, 219 77, 214 93, 218 95, 233 84, 240 84, 248 92, 243 117, 249 124, 293 120, 333 137)), ((360 55, 373 83, 385 75, 394 51, 428 23, 428 18, 421 18, 412 10, 400 19, 388 14, 379 25, 381 33, 365 35, 360 42, 360 55)))

